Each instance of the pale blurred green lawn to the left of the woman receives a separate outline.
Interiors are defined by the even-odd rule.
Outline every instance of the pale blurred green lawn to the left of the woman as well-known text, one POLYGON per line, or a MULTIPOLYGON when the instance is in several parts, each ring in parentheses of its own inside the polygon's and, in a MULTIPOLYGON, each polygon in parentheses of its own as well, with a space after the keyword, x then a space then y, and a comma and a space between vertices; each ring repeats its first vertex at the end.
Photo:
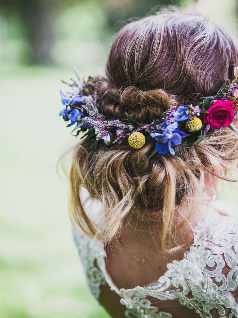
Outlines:
MULTIPOLYGON (((0 317, 106 318, 90 295, 56 172, 72 137, 57 116, 73 71, 1 66, 0 317)), ((61 174, 63 176, 63 174, 61 174)))

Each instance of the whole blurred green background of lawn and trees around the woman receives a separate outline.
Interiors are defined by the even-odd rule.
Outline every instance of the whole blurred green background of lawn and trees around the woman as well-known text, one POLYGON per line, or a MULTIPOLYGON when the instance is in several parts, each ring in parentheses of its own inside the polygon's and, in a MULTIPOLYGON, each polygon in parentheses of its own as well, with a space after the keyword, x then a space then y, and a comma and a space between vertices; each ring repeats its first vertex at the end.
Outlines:
MULTIPOLYGON (((167 4, 0 0, 1 318, 108 317, 87 289, 71 234, 68 184, 56 173, 73 138, 58 116, 60 79, 72 77, 74 66, 81 76, 102 73, 113 34, 129 18, 167 4)), ((237 33, 236 0, 196 5, 237 33)), ((221 197, 234 199, 234 191, 225 185, 221 197)))

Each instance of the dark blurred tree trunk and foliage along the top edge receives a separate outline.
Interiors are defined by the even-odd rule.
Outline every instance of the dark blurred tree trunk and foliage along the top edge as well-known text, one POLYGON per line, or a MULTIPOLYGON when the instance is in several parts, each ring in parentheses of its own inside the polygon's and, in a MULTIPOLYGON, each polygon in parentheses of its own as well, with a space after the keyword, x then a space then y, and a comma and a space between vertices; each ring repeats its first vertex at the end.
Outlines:
POLYGON ((118 21, 143 17, 155 7, 159 10, 159 6, 186 3, 186 0, 0 0, 0 8, 6 18, 16 15, 20 21, 23 38, 30 47, 24 60, 29 64, 51 64, 58 11, 89 1, 104 8, 108 25, 113 29, 118 21))

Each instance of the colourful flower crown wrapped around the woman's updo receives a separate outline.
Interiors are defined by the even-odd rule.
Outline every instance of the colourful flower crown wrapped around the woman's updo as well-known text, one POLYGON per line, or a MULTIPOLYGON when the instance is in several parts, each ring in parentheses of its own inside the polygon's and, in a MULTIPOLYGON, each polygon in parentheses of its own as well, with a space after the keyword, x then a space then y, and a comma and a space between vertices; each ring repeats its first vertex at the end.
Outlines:
POLYGON ((96 149, 98 142, 106 145, 121 144, 124 141, 134 149, 140 149, 147 141, 155 142, 155 149, 150 154, 170 154, 181 156, 175 152, 175 147, 187 142, 186 148, 198 145, 209 131, 221 133, 224 127, 229 127, 238 133, 233 121, 238 114, 238 68, 235 67, 235 80, 224 82, 217 94, 203 97, 198 105, 174 106, 166 108, 161 100, 164 113, 151 121, 147 109, 144 122, 137 122, 125 113, 125 119, 120 120, 103 114, 102 99, 98 99, 96 83, 99 76, 80 80, 75 70, 76 80, 66 83, 71 87, 71 93, 61 93, 61 101, 65 106, 59 113, 64 121, 70 121, 67 127, 76 124, 72 132, 76 136, 87 137, 91 149, 96 149))

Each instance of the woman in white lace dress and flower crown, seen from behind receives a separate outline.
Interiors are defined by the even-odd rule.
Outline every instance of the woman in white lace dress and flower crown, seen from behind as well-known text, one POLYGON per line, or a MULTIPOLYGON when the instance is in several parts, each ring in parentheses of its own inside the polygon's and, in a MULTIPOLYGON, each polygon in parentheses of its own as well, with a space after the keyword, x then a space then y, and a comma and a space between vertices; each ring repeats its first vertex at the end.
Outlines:
POLYGON ((238 218, 214 205, 238 158, 237 59, 228 31, 165 10, 124 26, 104 77, 61 93, 81 136, 75 241, 114 318, 238 317, 238 218))

